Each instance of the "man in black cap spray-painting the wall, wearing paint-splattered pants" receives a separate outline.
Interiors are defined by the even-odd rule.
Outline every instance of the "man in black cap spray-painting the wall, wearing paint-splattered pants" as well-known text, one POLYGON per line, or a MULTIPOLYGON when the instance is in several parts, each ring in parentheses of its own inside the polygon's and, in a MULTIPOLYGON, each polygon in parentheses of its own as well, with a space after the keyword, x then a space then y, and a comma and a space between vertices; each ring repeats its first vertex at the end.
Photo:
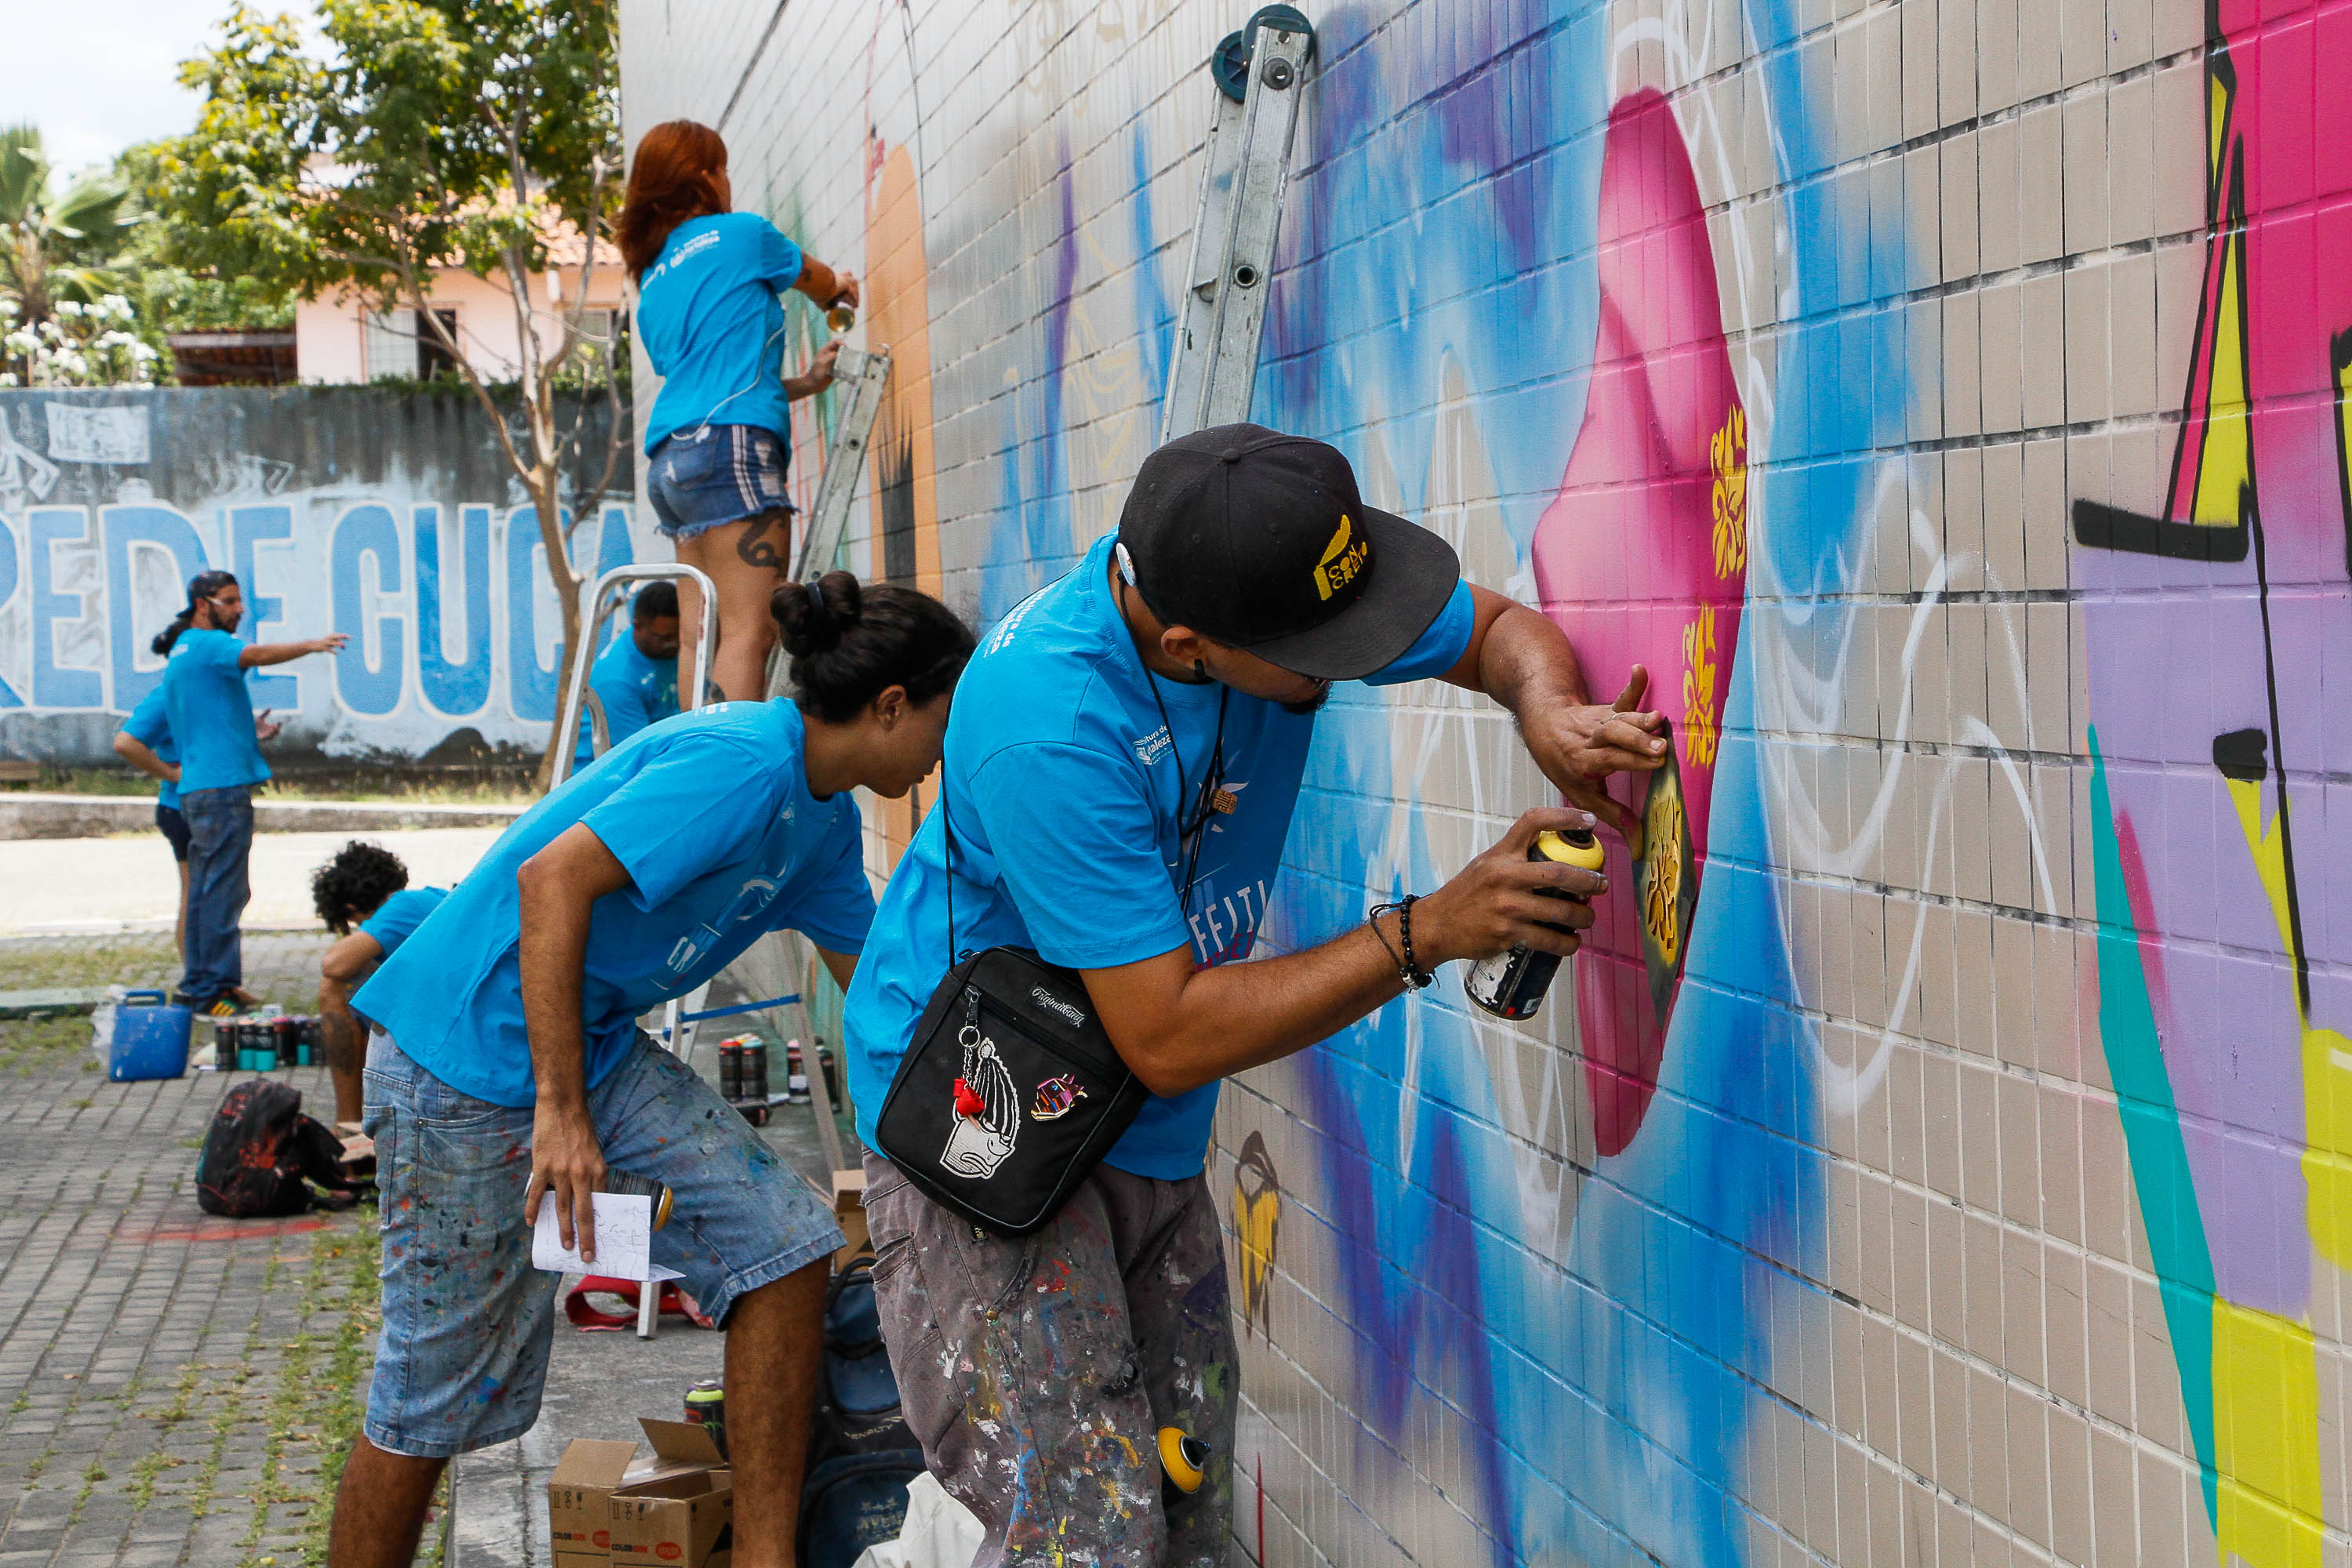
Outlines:
MULTIPOLYGON (((1526 851, 1585 809, 1630 827, 1602 780, 1663 762, 1663 722, 1635 712, 1644 686, 1635 670, 1613 708, 1590 703, 1550 621, 1465 585, 1442 538, 1367 508, 1334 447, 1258 425, 1145 458, 1117 538, 983 639, 941 809, 882 893, 849 992, 858 1133, 880 1147, 875 1114, 950 954, 995 945, 1077 969, 1152 1098, 1025 1239, 960 1220, 868 1154, 891 1368, 927 1465, 988 1530, 981 1568, 1223 1561, 1237 1368, 1202 1180, 1218 1079, 1327 1039, 1449 959, 1573 952, 1557 926, 1590 910, 1538 889, 1604 882, 1526 851), (1240 966, 1331 682, 1423 677, 1510 708, 1583 809, 1529 811, 1437 891, 1240 966), (1207 1443, 1207 1476, 1162 1502, 1167 1427, 1207 1443)), ((981 1100, 964 1110, 960 1088, 957 1114, 976 1119, 950 1166, 964 1175, 1004 1159, 1023 1119, 1065 1114, 1068 1088, 981 1100)))

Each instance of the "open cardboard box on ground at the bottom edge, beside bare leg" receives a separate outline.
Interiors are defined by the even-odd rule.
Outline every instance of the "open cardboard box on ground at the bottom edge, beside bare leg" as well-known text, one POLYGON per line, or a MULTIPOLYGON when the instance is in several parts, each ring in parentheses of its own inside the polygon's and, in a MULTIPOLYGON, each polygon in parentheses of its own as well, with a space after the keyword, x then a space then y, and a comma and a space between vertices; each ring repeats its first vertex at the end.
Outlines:
POLYGON ((701 1422, 637 1418, 635 1443, 572 1439, 548 1476, 555 1568, 727 1568, 713 1552, 734 1521, 734 1476, 701 1422), (626 1523, 623 1523, 626 1521, 626 1523))

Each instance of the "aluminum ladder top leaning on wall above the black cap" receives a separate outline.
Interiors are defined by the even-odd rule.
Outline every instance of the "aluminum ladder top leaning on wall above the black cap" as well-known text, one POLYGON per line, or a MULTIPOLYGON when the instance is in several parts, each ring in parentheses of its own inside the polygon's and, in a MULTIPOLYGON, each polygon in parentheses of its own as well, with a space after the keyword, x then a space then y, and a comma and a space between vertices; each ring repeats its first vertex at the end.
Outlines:
POLYGON ((1216 118, 1160 404, 1160 444, 1249 418, 1265 280, 1291 183, 1291 132, 1312 56, 1315 28, 1287 5, 1258 9, 1209 56, 1216 118))

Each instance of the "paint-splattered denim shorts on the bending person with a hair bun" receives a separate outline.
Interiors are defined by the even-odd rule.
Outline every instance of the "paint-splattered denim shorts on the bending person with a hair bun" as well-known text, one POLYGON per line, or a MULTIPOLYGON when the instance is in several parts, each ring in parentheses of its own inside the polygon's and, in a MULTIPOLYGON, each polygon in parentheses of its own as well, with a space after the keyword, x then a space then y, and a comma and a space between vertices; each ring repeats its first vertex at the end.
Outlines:
MULTIPOLYGON (((560 1274, 532 1267, 532 1110, 449 1088, 388 1037, 367 1044, 383 1201, 383 1338, 367 1441, 452 1458, 539 1420, 560 1274)), ((842 1244, 833 1208, 694 1070, 644 1034, 588 1091, 616 1190, 675 1194, 654 1262, 720 1324, 842 1244)))

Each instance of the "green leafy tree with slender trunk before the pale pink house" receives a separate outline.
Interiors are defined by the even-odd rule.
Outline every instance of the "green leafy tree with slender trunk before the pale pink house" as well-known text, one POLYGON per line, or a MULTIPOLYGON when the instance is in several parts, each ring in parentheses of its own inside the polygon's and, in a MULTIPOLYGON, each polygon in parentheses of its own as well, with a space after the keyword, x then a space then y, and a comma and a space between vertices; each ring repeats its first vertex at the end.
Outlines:
MULTIPOLYGON (((151 202, 181 266, 303 299, 355 289, 381 310, 414 313, 499 421, 539 512, 569 689, 581 625, 562 508, 576 498, 590 510, 628 428, 607 376, 602 477, 569 496, 569 475, 593 454, 581 449, 586 421, 557 418, 555 393, 595 353, 581 334, 588 275, 619 266, 612 0, 322 0, 318 14, 325 59, 292 16, 230 12, 219 45, 181 71, 205 110, 193 134, 158 146, 151 202), (586 242, 586 263, 555 303, 532 280, 567 233, 586 242), (517 397, 499 397, 433 313, 440 268, 506 289, 522 346, 517 397)), ((567 743, 550 738, 541 785, 567 743)))

